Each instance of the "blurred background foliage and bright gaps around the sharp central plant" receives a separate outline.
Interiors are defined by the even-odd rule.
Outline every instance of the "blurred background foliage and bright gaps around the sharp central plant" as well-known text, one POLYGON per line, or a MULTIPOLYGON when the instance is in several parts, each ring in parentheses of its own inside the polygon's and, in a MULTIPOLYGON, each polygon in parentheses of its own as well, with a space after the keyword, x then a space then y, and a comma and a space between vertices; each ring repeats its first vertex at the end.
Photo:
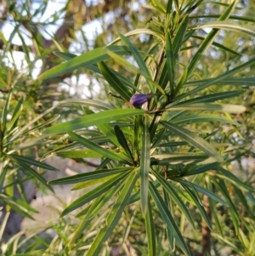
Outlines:
MULTIPOLYGON (((72 142, 68 136, 48 137, 43 134, 42 128, 49 127, 58 117, 60 122, 82 117, 84 109, 78 104, 78 100, 110 101, 114 105, 116 99, 109 95, 111 88, 105 79, 98 73, 82 67, 43 82, 37 77, 63 62, 63 59, 54 54, 55 51, 80 55, 94 48, 104 48, 118 37, 117 32, 125 34, 135 29, 149 28, 148 24, 158 15, 156 9, 151 6, 161 2, 166 4, 167 1, 157 2, 0 1, 0 237, 3 255, 42 255, 42 252, 43 255, 84 255, 88 251, 95 234, 100 230, 102 219, 110 211, 109 207, 105 207, 105 213, 99 215, 98 219, 77 237, 75 247, 66 246, 79 225, 79 221, 71 214, 59 218, 57 223, 48 223, 46 229, 54 230, 54 235, 50 236, 45 236, 42 232, 44 230, 37 230, 31 236, 24 237, 25 231, 20 230, 20 224, 24 217, 32 218, 32 213, 37 212, 37 209, 30 206, 37 189, 42 189, 45 193, 53 190, 43 174, 55 171, 55 168, 40 162, 40 159, 59 146, 72 142), (73 104, 58 107, 59 102, 63 100, 70 100, 73 104), (45 190, 45 187, 48 190, 45 190)), ((189 26, 217 20, 232 2, 173 1, 182 7, 195 7, 184 9, 184 12, 189 12, 190 15, 189 26)), ((230 18, 239 24, 254 26, 254 12, 254 1, 239 1, 230 18), (241 16, 245 18, 238 19, 241 16)), ((209 32, 207 28, 195 30, 185 43, 185 49, 178 55, 178 61, 188 65, 209 32)), ((254 38, 238 31, 219 31, 214 44, 202 54, 194 76, 189 80, 190 85, 187 82, 188 90, 189 86, 195 86, 192 84, 194 80, 217 77, 252 60, 255 53, 254 38)), ((129 40, 144 53, 148 53, 151 45, 156 42, 155 37, 144 33, 129 37, 129 40)), ((66 56, 68 55, 66 54, 65 58, 66 56)), ((70 58, 72 57, 70 55, 70 58)), ((134 63, 130 56, 127 60, 134 63)), ((106 63, 113 70, 134 81, 135 76, 130 69, 112 59, 106 63)), ((226 191, 221 191, 229 195, 229 201, 233 204, 230 210, 215 202, 212 204, 207 196, 201 196, 209 218, 213 219, 212 231, 207 228, 199 211, 192 204, 189 205, 189 210, 195 222, 195 229, 185 224, 183 214, 178 208, 173 208, 174 217, 180 223, 180 231, 191 255, 255 255, 255 198, 254 191, 249 190, 250 187, 254 188, 255 181, 254 69, 253 64, 238 73, 238 77, 250 77, 245 83, 236 81, 236 85, 226 85, 224 82, 218 82, 192 96, 200 97, 244 88, 243 94, 230 100, 222 100, 222 103, 245 105, 246 111, 231 115, 235 122, 240 123, 240 127, 219 125, 219 122, 190 124, 190 130, 202 131, 200 134, 203 138, 212 134, 210 143, 225 145, 224 150, 229 153, 229 158, 224 162, 224 168, 238 177, 235 179, 236 186, 233 186, 233 182, 226 182, 226 191), (231 210, 239 215, 238 231, 235 223, 233 224, 231 210), (214 222, 215 215, 218 223, 214 222), (222 233, 218 231, 219 226, 222 233)), ((181 65, 175 68, 176 77, 181 76, 183 72, 181 65)), ((123 102, 120 100, 116 104, 122 105, 123 102)), ((89 164, 86 159, 78 161, 85 166, 89 164)), ((211 174, 212 178, 213 175, 211 174)), ((206 183, 208 189, 218 194, 219 188, 215 187, 216 183, 212 185, 210 180, 206 174, 190 178, 190 181, 196 184, 206 183)), ((135 207, 136 204, 139 205, 135 202, 125 209, 122 220, 100 255, 148 255, 144 217, 139 208, 135 207)), ((63 209, 65 207, 63 203, 63 209)), ((152 205, 152 211, 153 216, 160 216, 155 205, 152 205)), ((154 222, 156 254, 183 255, 179 247, 171 251, 167 242, 166 225, 162 219, 155 218, 154 222)))

